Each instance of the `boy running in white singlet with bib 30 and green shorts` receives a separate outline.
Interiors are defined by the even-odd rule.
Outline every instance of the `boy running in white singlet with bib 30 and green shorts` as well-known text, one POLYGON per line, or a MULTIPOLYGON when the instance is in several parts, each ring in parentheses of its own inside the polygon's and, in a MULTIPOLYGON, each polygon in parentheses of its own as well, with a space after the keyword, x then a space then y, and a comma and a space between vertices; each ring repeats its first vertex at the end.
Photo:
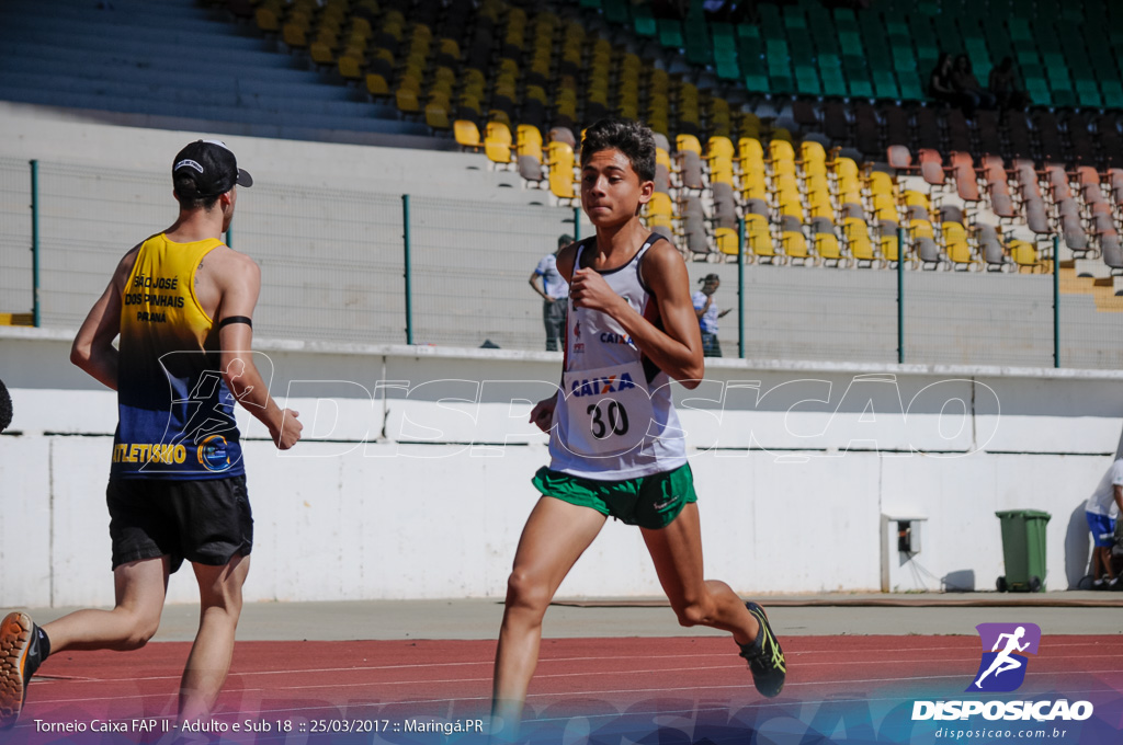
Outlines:
POLYGON ((560 390, 532 422, 550 432, 550 466, 514 557, 495 655, 492 736, 514 739, 554 594, 608 516, 638 525, 684 626, 732 633, 757 690, 786 674, 764 609, 702 573, 699 511, 670 383, 694 388, 705 368, 682 256, 639 219, 655 190, 655 138, 602 120, 581 150, 582 206, 596 236, 558 255, 569 282, 560 390))

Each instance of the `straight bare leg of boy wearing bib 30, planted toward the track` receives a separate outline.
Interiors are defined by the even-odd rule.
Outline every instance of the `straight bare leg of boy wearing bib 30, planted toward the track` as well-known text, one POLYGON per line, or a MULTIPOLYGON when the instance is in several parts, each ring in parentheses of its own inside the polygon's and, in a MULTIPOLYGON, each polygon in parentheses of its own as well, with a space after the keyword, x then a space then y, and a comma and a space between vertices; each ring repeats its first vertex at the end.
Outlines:
POLYGON ((530 678, 538 665, 542 616, 562 580, 604 526, 588 507, 542 497, 522 528, 495 652, 492 734, 513 736, 522 717, 530 678), (502 732, 499 732, 502 730, 502 732))

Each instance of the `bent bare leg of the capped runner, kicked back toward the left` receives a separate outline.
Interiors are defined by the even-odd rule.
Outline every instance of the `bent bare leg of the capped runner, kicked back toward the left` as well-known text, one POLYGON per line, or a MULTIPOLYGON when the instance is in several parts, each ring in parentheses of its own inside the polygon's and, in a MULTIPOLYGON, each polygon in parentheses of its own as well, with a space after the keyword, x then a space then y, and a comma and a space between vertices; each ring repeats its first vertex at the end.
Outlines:
POLYGON ((167 557, 143 559, 113 570, 112 610, 85 608, 44 624, 51 652, 62 650, 137 650, 159 627, 167 594, 167 557))

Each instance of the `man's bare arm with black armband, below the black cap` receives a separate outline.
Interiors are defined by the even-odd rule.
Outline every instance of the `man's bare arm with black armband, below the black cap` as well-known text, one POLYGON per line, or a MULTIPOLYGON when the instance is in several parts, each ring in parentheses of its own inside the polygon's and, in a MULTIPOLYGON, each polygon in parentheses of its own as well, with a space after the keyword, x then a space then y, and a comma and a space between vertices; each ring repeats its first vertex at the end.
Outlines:
MULTIPOLYGON (((219 249, 223 250, 223 249, 219 249)), ((214 273, 220 292, 214 322, 219 324, 222 379, 238 403, 264 424, 273 443, 287 450, 300 440, 304 426, 296 419, 298 412, 282 410, 270 395, 250 352, 253 326, 244 321, 222 324, 227 319, 252 319, 262 288, 262 272, 249 257, 223 250, 220 266, 214 273)))

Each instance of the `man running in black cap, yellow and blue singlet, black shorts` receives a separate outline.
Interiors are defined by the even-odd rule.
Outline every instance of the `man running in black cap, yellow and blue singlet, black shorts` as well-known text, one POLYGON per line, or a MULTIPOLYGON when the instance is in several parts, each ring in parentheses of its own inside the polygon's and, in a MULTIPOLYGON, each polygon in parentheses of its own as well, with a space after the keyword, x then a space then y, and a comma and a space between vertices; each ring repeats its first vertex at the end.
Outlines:
POLYGON ((116 604, 42 627, 24 613, 0 622, 0 728, 16 724, 28 681, 52 653, 144 646, 159 625, 168 574, 184 560, 202 608, 180 721, 209 714, 230 669, 253 548, 234 405, 282 450, 302 427, 270 396, 249 352, 261 270, 220 240, 237 186, 253 180, 213 140, 184 147, 172 178, 179 218, 125 255, 71 351, 118 394, 107 489, 116 604))

